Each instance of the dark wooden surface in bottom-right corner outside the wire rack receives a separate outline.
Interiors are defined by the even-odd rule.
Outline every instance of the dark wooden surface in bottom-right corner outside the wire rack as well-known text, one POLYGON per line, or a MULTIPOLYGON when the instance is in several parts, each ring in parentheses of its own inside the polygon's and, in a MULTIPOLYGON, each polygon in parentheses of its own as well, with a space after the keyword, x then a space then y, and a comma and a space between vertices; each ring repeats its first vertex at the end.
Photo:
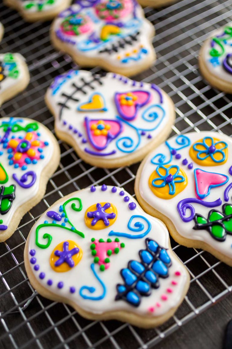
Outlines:
MULTIPOLYGON (((222 349, 227 323, 232 319, 232 295, 155 345, 154 349, 222 349)), ((231 347, 232 349, 232 347, 231 347)))

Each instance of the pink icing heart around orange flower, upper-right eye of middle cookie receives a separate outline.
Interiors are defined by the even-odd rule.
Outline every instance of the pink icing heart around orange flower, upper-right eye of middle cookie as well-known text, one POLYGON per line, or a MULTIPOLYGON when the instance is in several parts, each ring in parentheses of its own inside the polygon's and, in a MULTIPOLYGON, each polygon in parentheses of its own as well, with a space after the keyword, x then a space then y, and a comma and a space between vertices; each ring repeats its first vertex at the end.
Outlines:
POLYGON ((115 104, 117 106, 120 116, 125 120, 133 120, 137 116, 137 110, 139 107, 149 103, 150 101, 150 92, 148 91, 131 91, 138 99, 134 105, 122 105, 120 104, 120 96, 125 95, 125 93, 116 93, 115 94, 115 104))

